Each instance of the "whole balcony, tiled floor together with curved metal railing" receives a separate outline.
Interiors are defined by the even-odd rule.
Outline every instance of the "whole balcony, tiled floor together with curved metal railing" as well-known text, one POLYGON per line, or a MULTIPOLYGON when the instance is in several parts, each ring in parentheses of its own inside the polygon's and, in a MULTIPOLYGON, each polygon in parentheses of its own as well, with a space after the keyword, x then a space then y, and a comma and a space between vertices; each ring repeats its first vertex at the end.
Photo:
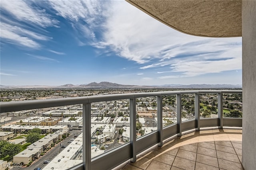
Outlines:
MULTIPOLYGON (((226 166, 229 164, 229 167, 231 167, 231 165, 237 165, 236 169, 241 169, 241 130, 223 129, 223 127, 242 127, 242 118, 223 117, 224 93, 242 94, 242 91, 168 91, 5 102, 1 103, 0 111, 1 113, 4 113, 83 104, 83 160, 81 164, 74 165, 74 167, 70 168, 71 170, 102 170, 103 167, 103 169, 136 169, 137 167, 142 169, 156 169, 154 168, 156 166, 159 169, 162 165, 167 167, 167 169, 170 169, 171 166, 173 166, 172 169, 187 169, 183 166, 189 164, 192 169, 207 165, 210 166, 208 168, 212 169, 218 167, 226 169, 226 166), (194 95, 195 118, 188 121, 182 121, 182 95, 184 94, 194 95), (207 119, 200 118, 200 94, 218 94, 218 117, 207 119), (176 95, 177 123, 163 127, 162 98, 163 96, 169 95, 176 95), (136 98, 152 96, 157 98, 157 131, 153 131, 152 133, 136 139, 136 98), (108 152, 104 152, 104 154, 101 154, 100 156, 92 158, 91 104, 94 102, 123 99, 130 100, 130 141, 108 152), (218 128, 204 130, 206 127, 218 128), (188 133, 187 131, 192 132, 188 133), (235 158, 230 160, 232 156, 235 158), (190 163, 184 164, 184 161, 190 163), (181 166, 181 164, 183 166, 181 166)), ((206 167, 206 169, 208 168, 206 167)), ((60 168, 54 167, 54 170, 56 169, 60 168)))

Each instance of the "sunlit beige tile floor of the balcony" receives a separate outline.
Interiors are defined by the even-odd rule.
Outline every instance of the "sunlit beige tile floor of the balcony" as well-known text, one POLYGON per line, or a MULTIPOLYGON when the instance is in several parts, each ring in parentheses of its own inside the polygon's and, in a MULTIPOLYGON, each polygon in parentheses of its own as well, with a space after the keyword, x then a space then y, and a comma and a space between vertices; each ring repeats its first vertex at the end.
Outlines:
POLYGON ((243 170, 242 129, 187 132, 164 141, 113 170, 243 170))

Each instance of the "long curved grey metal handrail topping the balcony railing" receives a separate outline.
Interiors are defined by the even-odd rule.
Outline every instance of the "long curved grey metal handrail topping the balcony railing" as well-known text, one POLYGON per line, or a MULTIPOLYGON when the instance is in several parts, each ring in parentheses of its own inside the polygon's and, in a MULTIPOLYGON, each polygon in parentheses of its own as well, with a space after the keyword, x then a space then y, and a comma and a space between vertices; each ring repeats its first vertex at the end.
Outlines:
POLYGON ((181 90, 181 91, 162 91, 162 92, 143 92, 128 94, 108 94, 99 96, 84 96, 57 98, 45 100, 26 100, 17 102, 0 102, 0 113, 10 111, 21 111, 30 109, 42 109, 48 107, 68 106, 75 104, 88 104, 93 102, 104 102, 112 100, 123 100, 132 98, 143 98, 150 96, 167 96, 176 94, 218 94, 218 93, 242 93, 242 90, 181 90))

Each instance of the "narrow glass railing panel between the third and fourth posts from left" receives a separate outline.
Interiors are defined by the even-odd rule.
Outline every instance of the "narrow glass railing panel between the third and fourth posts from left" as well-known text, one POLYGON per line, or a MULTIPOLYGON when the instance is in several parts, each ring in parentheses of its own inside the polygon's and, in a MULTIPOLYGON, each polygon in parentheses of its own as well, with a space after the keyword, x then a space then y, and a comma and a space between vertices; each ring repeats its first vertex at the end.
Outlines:
POLYGON ((176 95, 162 97, 163 127, 177 123, 176 95))

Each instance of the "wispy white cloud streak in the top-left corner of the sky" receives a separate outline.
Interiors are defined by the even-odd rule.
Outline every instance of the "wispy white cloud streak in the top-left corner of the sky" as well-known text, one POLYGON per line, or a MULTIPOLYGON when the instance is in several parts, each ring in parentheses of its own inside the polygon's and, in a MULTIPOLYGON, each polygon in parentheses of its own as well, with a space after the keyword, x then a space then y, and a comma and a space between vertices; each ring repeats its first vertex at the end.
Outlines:
POLYGON ((19 21, 36 24, 41 27, 56 26, 58 21, 52 19, 46 10, 32 6, 32 1, 1 1, 1 9, 6 10, 19 21))

